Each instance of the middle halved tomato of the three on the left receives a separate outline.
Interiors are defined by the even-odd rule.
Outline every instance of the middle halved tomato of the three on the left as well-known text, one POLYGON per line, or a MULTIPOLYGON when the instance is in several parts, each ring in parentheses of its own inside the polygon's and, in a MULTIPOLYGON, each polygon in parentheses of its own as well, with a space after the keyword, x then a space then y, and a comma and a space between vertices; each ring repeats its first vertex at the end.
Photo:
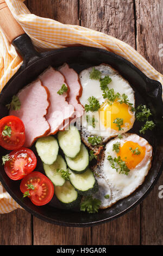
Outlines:
POLYGON ((32 150, 21 148, 13 150, 9 154, 9 161, 4 164, 4 170, 12 180, 21 180, 31 173, 37 163, 37 159, 32 150))

